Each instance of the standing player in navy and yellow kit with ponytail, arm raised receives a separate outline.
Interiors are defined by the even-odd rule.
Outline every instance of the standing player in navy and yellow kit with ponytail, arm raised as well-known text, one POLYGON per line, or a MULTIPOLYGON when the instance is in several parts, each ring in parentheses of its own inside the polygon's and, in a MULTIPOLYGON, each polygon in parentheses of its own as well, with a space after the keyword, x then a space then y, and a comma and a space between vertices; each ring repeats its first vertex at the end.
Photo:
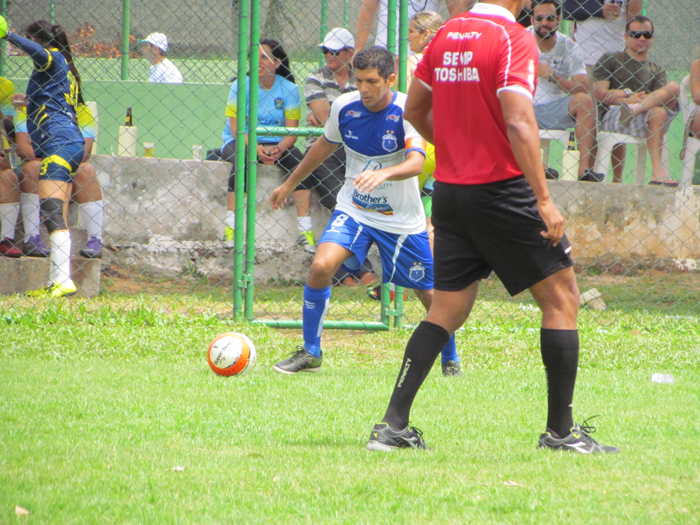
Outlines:
POLYGON ((34 62, 27 84, 27 129, 34 151, 42 159, 39 199, 51 240, 49 283, 27 295, 62 297, 77 290, 70 276, 71 239, 63 204, 70 197, 72 176, 85 148, 75 110, 79 76, 75 67, 71 68, 68 38, 60 26, 40 20, 31 23, 25 33, 28 38, 11 31, 4 38, 34 62))

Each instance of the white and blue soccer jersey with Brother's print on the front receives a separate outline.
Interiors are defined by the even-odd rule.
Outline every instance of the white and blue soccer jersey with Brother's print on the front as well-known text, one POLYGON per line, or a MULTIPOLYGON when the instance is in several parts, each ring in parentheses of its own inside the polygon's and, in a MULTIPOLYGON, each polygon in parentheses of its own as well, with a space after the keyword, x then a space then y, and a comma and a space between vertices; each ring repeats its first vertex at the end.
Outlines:
POLYGON ((406 95, 394 93, 382 111, 369 111, 359 92, 345 93, 331 106, 324 137, 345 145, 345 184, 338 192, 336 210, 360 223, 390 233, 414 234, 425 230, 425 213, 418 177, 387 181, 370 193, 355 188, 355 178, 365 170, 395 166, 409 151, 425 155, 425 141, 403 118, 406 95))

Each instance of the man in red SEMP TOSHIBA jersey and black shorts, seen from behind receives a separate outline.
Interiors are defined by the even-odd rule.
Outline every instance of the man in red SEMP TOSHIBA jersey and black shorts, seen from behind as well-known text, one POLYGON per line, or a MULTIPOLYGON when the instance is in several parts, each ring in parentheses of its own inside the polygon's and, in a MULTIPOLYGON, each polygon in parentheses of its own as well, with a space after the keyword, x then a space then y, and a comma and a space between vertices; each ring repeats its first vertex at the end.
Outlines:
POLYGON ((532 99, 537 45, 516 23, 527 0, 485 0, 447 22, 416 70, 405 117, 435 145, 435 296, 406 346, 389 407, 367 448, 427 448, 409 427, 418 389, 469 317, 479 281, 496 272, 542 310, 547 429, 539 446, 619 452, 574 423, 578 287, 564 219, 550 197, 532 99))

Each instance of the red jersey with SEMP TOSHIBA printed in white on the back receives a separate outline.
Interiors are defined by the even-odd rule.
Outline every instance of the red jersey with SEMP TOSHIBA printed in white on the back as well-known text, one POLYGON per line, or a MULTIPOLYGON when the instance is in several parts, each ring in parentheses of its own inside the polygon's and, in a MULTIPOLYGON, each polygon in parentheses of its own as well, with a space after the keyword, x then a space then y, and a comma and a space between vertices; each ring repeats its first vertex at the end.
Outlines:
POLYGON ((432 90, 435 179, 485 184, 522 175, 498 94, 531 100, 537 43, 507 9, 476 4, 437 32, 415 76, 432 90))

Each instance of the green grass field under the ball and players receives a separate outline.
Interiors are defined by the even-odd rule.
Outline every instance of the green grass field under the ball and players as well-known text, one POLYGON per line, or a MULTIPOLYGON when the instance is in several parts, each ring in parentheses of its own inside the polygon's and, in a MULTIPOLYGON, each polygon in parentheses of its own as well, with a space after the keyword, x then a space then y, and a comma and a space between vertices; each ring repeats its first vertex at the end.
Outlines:
POLYGON ((327 331, 323 370, 290 377, 271 365, 298 331, 112 301, 2 312, 0 523, 698 523, 697 319, 581 316, 575 415, 619 455, 535 448, 538 316, 516 303, 458 333, 464 377, 429 376, 412 424, 432 450, 377 454, 410 331, 327 331), (206 348, 232 329, 259 362, 223 378, 206 348))

